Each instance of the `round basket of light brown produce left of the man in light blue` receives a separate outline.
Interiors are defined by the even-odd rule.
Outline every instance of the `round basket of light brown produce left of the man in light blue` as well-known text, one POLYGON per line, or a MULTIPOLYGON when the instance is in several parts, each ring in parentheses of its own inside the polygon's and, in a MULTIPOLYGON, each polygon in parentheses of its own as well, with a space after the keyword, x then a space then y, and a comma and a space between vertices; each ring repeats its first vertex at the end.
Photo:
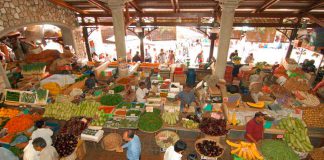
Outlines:
POLYGON ((121 146, 123 142, 122 137, 118 133, 109 133, 102 140, 102 145, 105 150, 113 151, 121 146))

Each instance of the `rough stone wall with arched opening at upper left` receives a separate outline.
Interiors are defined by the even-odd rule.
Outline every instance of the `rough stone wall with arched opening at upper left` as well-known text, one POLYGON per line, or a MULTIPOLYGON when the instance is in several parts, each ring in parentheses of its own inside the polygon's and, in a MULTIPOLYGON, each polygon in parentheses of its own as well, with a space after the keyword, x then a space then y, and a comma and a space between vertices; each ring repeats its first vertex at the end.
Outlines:
POLYGON ((75 41, 75 51, 84 57, 84 47, 78 46, 82 36, 74 31, 78 27, 73 11, 54 5, 48 0, 0 0, 0 37, 34 24, 53 24, 70 29, 75 41))

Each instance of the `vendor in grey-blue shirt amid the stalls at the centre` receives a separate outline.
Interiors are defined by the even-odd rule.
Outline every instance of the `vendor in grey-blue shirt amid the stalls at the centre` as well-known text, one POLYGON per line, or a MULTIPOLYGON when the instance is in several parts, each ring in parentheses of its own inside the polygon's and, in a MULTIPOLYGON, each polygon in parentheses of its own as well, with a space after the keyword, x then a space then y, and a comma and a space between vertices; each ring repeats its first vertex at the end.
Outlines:
POLYGON ((197 106, 199 106, 198 101, 196 100, 195 93, 192 90, 191 86, 186 85, 183 88, 183 91, 181 91, 176 98, 181 101, 180 104, 180 111, 183 112, 183 108, 185 106, 189 106, 192 102, 195 102, 197 106))

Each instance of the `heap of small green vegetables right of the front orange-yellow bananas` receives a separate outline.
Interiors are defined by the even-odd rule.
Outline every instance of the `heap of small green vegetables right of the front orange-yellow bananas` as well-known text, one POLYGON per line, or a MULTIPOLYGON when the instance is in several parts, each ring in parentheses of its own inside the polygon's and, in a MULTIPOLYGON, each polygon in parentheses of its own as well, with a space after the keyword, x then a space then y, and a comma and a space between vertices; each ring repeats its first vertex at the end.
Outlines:
POLYGON ((271 160, 299 160, 298 155, 281 140, 263 140, 261 153, 264 159, 271 160))

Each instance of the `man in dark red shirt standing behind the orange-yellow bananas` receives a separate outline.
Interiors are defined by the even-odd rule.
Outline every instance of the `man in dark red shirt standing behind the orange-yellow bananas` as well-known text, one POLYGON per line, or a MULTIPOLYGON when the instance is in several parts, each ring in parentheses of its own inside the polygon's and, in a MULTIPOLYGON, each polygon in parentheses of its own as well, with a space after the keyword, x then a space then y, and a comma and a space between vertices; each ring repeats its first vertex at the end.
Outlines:
POLYGON ((245 139, 249 142, 257 143, 263 139, 263 123, 266 114, 257 112, 254 118, 246 124, 245 139))

